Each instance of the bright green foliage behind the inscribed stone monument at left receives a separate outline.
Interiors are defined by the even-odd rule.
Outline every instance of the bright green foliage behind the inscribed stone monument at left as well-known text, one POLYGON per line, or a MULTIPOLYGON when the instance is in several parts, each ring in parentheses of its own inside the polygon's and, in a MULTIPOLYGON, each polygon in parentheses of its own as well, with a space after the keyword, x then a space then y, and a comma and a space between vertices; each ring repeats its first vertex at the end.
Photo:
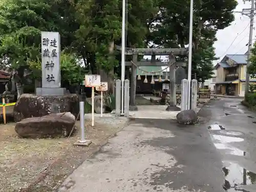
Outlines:
POLYGON ((29 70, 29 61, 40 62, 40 32, 60 31, 63 34, 62 49, 70 43, 69 39, 72 39, 72 32, 74 33, 77 26, 71 24, 72 14, 70 16, 69 13, 74 11, 68 2, 65 0, 1 1, 1 67, 15 71, 14 80, 18 95, 23 93, 23 86, 26 84, 25 71, 29 70), (63 6, 65 3, 68 5, 63 6), (60 10, 61 6, 62 10, 60 10), (67 25, 67 22, 70 25, 67 25))

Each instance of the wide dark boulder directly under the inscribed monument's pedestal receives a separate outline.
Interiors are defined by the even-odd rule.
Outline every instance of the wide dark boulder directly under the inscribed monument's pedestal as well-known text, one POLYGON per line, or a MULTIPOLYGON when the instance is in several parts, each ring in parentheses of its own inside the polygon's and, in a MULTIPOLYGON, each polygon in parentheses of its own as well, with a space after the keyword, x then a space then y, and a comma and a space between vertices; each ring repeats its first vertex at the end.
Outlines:
POLYGON ((71 112, 76 118, 79 114, 79 97, 76 94, 64 96, 37 96, 23 94, 17 100, 13 116, 19 122, 30 117, 41 117, 52 113, 71 112))

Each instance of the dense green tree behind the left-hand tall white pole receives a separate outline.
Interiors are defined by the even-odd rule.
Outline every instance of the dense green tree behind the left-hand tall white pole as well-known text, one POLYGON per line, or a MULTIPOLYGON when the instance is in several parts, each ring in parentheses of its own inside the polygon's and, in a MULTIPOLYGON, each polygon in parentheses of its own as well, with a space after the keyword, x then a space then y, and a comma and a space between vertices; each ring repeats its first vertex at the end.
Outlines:
MULTIPOLYGON (((120 53, 114 45, 121 44, 121 1, 78 0, 76 19, 80 23, 72 47, 82 57, 91 73, 101 75, 113 88, 114 68, 119 70, 120 53)), ((127 47, 144 47, 148 17, 157 13, 153 0, 132 0, 127 5, 127 47)), ((127 58, 130 59, 130 58, 127 58)))

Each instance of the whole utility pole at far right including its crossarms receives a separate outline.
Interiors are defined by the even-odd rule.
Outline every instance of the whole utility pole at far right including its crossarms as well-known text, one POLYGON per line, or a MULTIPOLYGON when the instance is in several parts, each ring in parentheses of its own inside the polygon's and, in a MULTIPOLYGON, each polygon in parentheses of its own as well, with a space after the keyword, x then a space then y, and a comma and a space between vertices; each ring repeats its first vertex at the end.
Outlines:
MULTIPOLYGON (((243 0, 244 3, 250 0, 243 0)), ((247 73, 247 69, 250 66, 250 53, 252 47, 252 32, 253 32, 253 20, 254 20, 254 0, 251 0, 251 8, 243 9, 241 12, 243 15, 247 15, 250 17, 250 32, 249 32, 249 42, 248 42, 248 53, 247 53, 247 66, 246 66, 246 77, 245 77, 245 94, 249 92, 249 83, 250 83, 250 75, 247 73)))

